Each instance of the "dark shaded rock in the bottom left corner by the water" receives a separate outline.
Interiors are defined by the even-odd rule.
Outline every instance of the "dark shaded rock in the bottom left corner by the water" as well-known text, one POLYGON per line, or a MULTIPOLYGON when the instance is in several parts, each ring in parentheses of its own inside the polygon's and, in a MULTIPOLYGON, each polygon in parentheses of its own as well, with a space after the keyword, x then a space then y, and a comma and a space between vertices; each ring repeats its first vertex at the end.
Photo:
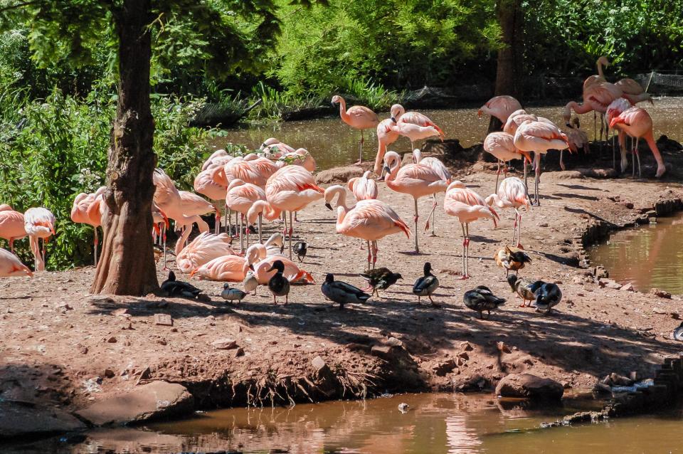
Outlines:
POLYGON ((58 408, 0 399, 0 440, 82 431, 85 424, 58 408))

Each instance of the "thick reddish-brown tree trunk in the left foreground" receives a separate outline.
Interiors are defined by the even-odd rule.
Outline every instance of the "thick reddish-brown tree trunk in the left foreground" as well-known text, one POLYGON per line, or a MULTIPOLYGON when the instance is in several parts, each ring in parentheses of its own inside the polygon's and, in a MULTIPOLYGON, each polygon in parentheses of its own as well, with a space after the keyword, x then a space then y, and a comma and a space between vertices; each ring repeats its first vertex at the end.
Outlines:
POLYGON ((107 166, 104 241, 92 293, 145 295, 157 289, 152 246, 154 118, 149 105, 150 0, 124 0, 116 14, 119 84, 107 166))

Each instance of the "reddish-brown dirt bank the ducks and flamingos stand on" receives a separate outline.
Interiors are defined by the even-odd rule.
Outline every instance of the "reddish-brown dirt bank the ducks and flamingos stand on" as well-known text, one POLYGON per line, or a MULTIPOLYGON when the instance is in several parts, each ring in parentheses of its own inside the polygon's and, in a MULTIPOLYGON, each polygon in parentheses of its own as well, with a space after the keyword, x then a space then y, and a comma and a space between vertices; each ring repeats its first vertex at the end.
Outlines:
MULTIPOLYGON (((482 171, 487 168, 475 164, 472 172, 468 164, 457 176, 487 195, 495 179, 482 171)), ((601 287, 578 264, 583 242, 598 235, 596 225, 606 232, 647 221, 655 204, 682 199, 682 186, 548 172, 541 177, 541 194, 541 206, 524 216, 521 240, 534 262, 520 275, 562 287, 563 301, 552 315, 518 307, 493 260, 512 236, 513 213, 500 213, 499 228, 472 224, 472 279, 462 281, 456 275, 460 226, 445 216, 441 203, 438 236, 420 231, 419 255, 405 237, 379 242, 378 265, 404 279, 381 297, 340 311, 324 301, 319 284, 332 272, 362 287, 357 273, 366 252, 359 241, 334 233, 334 214, 319 203, 300 213, 295 225, 310 245, 303 266, 318 284, 292 287, 286 307, 272 305, 263 287, 231 307, 219 297, 222 283, 196 280, 206 300, 88 295, 92 268, 3 280, 0 399, 75 411, 162 380, 185 386, 195 406, 211 407, 481 389, 513 372, 574 389, 590 389, 597 377, 613 371, 649 376, 667 355, 680 351, 669 337, 680 323, 672 314, 683 313, 682 298, 601 287), (441 283, 438 308, 418 306, 411 294, 425 261, 433 263, 441 283), (462 304, 463 292, 482 284, 509 299, 491 320, 480 320, 462 304), (170 315, 172 325, 155 324, 157 314, 170 315), (233 339, 239 348, 218 349, 214 343, 221 339, 233 339)), ((384 184, 380 198, 411 225, 412 199, 384 184)), ((421 215, 430 207, 430 200, 420 200, 421 215)), ((159 280, 164 278, 159 270, 159 280)))

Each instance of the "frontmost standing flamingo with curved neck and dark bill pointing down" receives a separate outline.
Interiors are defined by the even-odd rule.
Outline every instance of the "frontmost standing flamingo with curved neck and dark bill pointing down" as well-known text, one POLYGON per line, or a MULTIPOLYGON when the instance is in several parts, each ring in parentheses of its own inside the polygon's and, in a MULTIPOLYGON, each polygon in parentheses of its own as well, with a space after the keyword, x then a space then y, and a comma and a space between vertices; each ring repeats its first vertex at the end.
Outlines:
POLYGON ((366 199, 355 206, 346 206, 346 190, 343 186, 334 185, 325 191, 327 208, 332 209, 329 202, 337 196, 337 233, 353 238, 361 238, 368 245, 368 269, 375 268, 377 263, 377 241, 394 233, 406 233, 411 238, 411 229, 403 222, 396 211, 383 201, 366 199))

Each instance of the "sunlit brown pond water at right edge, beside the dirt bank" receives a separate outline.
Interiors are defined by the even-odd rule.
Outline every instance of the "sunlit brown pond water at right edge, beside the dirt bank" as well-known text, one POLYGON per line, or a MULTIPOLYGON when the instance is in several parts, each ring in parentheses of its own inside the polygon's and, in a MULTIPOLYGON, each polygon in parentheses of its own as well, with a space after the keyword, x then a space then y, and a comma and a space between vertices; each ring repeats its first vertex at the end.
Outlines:
POLYGON ((652 287, 683 294, 683 216, 618 231, 588 250, 593 265, 603 265, 610 278, 630 281, 642 292, 652 287))

